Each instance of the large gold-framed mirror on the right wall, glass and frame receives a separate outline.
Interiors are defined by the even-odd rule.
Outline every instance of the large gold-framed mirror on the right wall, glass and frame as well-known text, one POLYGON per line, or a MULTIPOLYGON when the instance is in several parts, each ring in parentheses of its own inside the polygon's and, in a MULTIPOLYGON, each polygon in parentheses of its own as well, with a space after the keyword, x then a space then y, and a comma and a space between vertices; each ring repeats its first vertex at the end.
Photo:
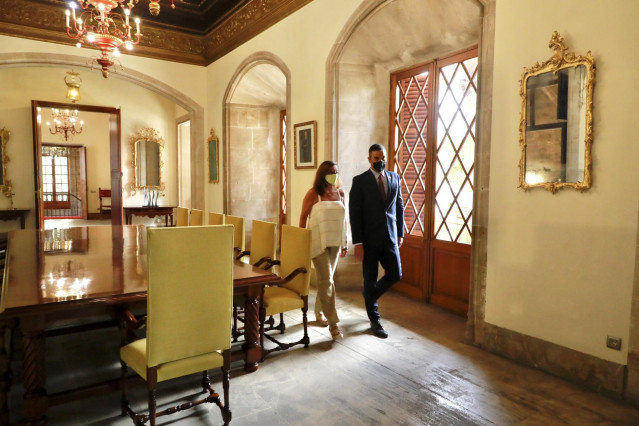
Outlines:
POLYGON ((592 183, 592 96, 595 60, 568 52, 553 32, 555 53, 524 68, 519 123, 519 187, 585 191, 592 183))

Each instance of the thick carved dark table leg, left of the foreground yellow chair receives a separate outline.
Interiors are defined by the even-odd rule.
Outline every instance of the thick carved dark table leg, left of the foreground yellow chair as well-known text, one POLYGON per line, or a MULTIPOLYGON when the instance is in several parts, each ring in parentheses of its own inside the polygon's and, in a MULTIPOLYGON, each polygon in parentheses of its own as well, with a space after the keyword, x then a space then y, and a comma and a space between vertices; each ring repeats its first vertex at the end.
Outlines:
POLYGON ((44 318, 23 318, 20 327, 23 334, 24 417, 29 425, 41 425, 46 423, 47 413, 44 318))

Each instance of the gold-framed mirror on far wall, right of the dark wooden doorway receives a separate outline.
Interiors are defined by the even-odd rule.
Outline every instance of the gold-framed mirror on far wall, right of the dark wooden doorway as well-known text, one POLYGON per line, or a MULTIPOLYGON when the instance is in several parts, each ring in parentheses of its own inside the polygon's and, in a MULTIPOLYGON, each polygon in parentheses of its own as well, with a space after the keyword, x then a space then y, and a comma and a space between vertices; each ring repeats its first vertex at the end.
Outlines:
POLYGON ((158 190, 160 195, 165 195, 165 185, 162 181, 164 139, 157 130, 147 127, 131 136, 129 144, 132 179, 126 186, 129 195, 135 195, 138 189, 158 190))

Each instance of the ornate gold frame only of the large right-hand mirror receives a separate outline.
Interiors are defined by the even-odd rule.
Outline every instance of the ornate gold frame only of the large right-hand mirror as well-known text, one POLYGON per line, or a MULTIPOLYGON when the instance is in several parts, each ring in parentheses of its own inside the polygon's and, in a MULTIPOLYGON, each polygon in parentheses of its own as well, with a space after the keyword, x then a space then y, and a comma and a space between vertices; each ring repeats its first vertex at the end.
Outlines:
POLYGON ((562 188, 574 188, 579 191, 585 191, 590 188, 592 184, 592 157, 591 146, 593 142, 592 137, 592 96, 595 86, 595 60, 590 54, 590 51, 586 53, 586 56, 575 55, 574 53, 568 53, 568 47, 564 45, 564 39, 559 35, 557 31, 552 33, 548 47, 553 49, 555 53, 542 63, 537 62, 533 67, 524 67, 524 73, 521 76, 521 120, 519 122, 519 146, 521 149, 521 159, 519 160, 519 187, 524 190, 530 188, 545 188, 553 194, 557 190, 562 188), (584 160, 584 180, 583 182, 541 182, 535 184, 526 183, 526 117, 527 117, 527 80, 539 74, 553 72, 583 65, 586 67, 586 136, 585 143, 585 160, 584 160))

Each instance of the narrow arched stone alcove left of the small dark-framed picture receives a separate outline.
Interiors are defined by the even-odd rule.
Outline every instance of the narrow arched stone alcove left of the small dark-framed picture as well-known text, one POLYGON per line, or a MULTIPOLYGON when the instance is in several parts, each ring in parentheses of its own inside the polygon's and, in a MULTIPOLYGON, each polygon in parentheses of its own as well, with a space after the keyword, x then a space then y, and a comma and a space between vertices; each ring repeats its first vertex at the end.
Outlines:
POLYGON ((268 52, 247 58, 224 96, 225 212, 251 221, 286 222, 290 72, 268 52))

